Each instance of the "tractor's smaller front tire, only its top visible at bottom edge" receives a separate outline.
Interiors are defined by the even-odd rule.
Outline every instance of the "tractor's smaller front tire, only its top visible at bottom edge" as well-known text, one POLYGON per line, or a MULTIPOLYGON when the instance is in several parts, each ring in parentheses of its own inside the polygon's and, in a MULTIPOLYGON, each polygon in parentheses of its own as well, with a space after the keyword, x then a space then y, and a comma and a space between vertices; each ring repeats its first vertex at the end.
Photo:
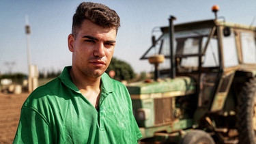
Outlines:
POLYGON ((180 141, 180 144, 214 144, 212 136, 203 130, 191 130, 180 141))

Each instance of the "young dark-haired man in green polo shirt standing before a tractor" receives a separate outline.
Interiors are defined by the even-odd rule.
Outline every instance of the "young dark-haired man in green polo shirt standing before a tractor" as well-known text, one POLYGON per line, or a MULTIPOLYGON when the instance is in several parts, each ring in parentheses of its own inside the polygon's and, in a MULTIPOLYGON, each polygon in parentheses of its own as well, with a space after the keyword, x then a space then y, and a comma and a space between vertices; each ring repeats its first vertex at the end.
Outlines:
POLYGON ((137 143, 129 93, 104 73, 119 25, 105 5, 79 5, 68 35, 72 66, 27 98, 14 143, 137 143))

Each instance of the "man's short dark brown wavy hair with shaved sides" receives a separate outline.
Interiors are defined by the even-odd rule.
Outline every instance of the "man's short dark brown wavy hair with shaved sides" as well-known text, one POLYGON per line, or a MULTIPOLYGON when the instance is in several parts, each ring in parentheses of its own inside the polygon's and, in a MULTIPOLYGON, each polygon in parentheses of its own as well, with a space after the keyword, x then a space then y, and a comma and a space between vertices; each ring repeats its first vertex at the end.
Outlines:
POLYGON ((116 31, 120 27, 120 18, 115 10, 101 3, 83 2, 77 7, 73 16, 72 34, 75 38, 84 20, 91 20, 101 27, 113 27, 116 31))

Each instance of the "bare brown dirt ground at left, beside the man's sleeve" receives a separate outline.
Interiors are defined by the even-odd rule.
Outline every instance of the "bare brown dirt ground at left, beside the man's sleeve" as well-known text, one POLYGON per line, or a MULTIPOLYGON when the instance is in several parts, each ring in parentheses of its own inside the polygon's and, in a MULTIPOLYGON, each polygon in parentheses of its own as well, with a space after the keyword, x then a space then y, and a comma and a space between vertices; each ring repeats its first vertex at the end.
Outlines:
POLYGON ((0 144, 12 143, 18 120, 20 108, 29 93, 5 94, 0 92, 0 144))

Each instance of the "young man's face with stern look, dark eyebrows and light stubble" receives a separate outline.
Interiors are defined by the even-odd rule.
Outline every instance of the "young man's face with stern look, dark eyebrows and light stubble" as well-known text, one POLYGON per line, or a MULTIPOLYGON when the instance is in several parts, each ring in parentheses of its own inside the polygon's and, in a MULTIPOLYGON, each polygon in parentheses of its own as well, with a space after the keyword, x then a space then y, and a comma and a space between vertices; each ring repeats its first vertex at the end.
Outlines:
POLYGON ((85 20, 76 38, 68 36, 68 47, 73 53, 72 69, 83 76, 101 76, 113 57, 116 33, 115 29, 103 28, 85 20))

